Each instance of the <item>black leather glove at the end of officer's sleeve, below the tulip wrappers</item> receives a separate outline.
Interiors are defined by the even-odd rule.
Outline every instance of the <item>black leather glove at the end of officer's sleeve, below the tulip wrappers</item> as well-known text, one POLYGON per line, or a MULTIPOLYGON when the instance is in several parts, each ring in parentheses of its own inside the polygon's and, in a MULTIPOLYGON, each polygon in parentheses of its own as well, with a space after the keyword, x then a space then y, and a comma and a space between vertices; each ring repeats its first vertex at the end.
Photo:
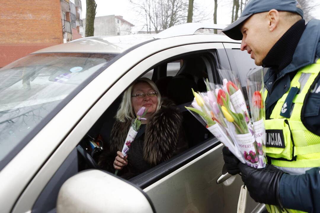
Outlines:
POLYGON ((283 171, 267 164, 263 169, 254 169, 240 163, 242 181, 248 188, 253 200, 259 203, 277 205, 282 208, 280 202, 280 179, 283 171))

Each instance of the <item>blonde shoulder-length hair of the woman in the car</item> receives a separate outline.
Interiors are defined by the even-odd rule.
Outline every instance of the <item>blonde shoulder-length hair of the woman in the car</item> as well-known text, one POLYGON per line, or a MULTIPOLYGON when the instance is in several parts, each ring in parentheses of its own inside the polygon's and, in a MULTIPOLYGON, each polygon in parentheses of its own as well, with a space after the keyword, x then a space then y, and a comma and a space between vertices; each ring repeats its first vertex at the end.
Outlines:
POLYGON ((160 95, 158 87, 156 86, 156 84, 152 80, 150 80, 148 78, 140 78, 140 79, 135 80, 133 82, 133 84, 123 94, 121 104, 120 104, 119 109, 116 114, 116 119, 119 120, 120 122, 125 122, 126 120, 132 120, 136 117, 135 112, 133 110, 133 106, 132 106, 131 95, 132 95, 132 89, 133 89, 134 85, 136 85, 137 83, 141 83, 141 82, 148 83, 150 85, 150 87, 157 92, 158 102, 157 102, 156 110, 160 109, 162 99, 161 99, 161 95, 160 95))

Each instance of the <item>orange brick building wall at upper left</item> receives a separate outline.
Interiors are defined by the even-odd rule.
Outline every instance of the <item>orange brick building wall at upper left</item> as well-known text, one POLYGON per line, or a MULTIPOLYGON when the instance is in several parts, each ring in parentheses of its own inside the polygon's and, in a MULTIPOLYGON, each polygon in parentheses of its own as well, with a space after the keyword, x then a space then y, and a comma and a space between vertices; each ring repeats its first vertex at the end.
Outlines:
POLYGON ((63 43, 60 0, 0 0, 0 67, 63 43))

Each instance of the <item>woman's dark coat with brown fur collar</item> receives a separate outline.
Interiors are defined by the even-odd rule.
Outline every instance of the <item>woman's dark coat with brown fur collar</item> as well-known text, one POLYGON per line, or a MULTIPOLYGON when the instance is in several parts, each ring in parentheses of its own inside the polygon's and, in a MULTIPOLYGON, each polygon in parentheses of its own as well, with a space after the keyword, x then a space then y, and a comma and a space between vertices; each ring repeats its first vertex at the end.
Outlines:
MULTIPOLYGON (((188 148, 182 129, 180 112, 172 102, 164 102, 159 110, 142 125, 128 152, 128 165, 119 175, 129 179, 160 164, 188 148), (143 132, 144 130, 144 132, 143 132)), ((98 161, 101 169, 115 172, 116 152, 122 150, 132 120, 116 121, 111 130, 110 150, 104 151, 98 161)))

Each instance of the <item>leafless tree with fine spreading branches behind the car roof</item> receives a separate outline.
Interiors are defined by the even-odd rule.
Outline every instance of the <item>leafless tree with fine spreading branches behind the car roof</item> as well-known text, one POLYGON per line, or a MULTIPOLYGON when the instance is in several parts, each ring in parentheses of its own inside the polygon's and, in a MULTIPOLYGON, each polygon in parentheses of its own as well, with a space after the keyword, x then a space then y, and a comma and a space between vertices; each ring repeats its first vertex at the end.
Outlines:
POLYGON ((130 0, 144 19, 147 33, 187 22, 188 0, 130 0))

